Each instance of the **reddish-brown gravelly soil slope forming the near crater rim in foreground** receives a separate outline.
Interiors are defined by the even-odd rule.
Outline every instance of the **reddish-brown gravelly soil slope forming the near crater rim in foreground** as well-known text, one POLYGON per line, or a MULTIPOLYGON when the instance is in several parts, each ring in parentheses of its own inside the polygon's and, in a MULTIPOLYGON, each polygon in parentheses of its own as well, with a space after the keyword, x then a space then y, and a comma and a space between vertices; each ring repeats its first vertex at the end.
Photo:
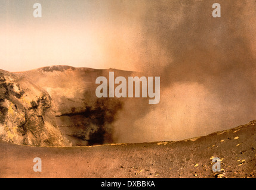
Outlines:
POLYGON ((178 142, 55 148, 1 141, 0 177, 255 178, 255 124, 178 142), (42 159, 42 172, 33 171, 35 157, 42 159), (211 157, 223 159, 221 172, 212 172, 211 157))

